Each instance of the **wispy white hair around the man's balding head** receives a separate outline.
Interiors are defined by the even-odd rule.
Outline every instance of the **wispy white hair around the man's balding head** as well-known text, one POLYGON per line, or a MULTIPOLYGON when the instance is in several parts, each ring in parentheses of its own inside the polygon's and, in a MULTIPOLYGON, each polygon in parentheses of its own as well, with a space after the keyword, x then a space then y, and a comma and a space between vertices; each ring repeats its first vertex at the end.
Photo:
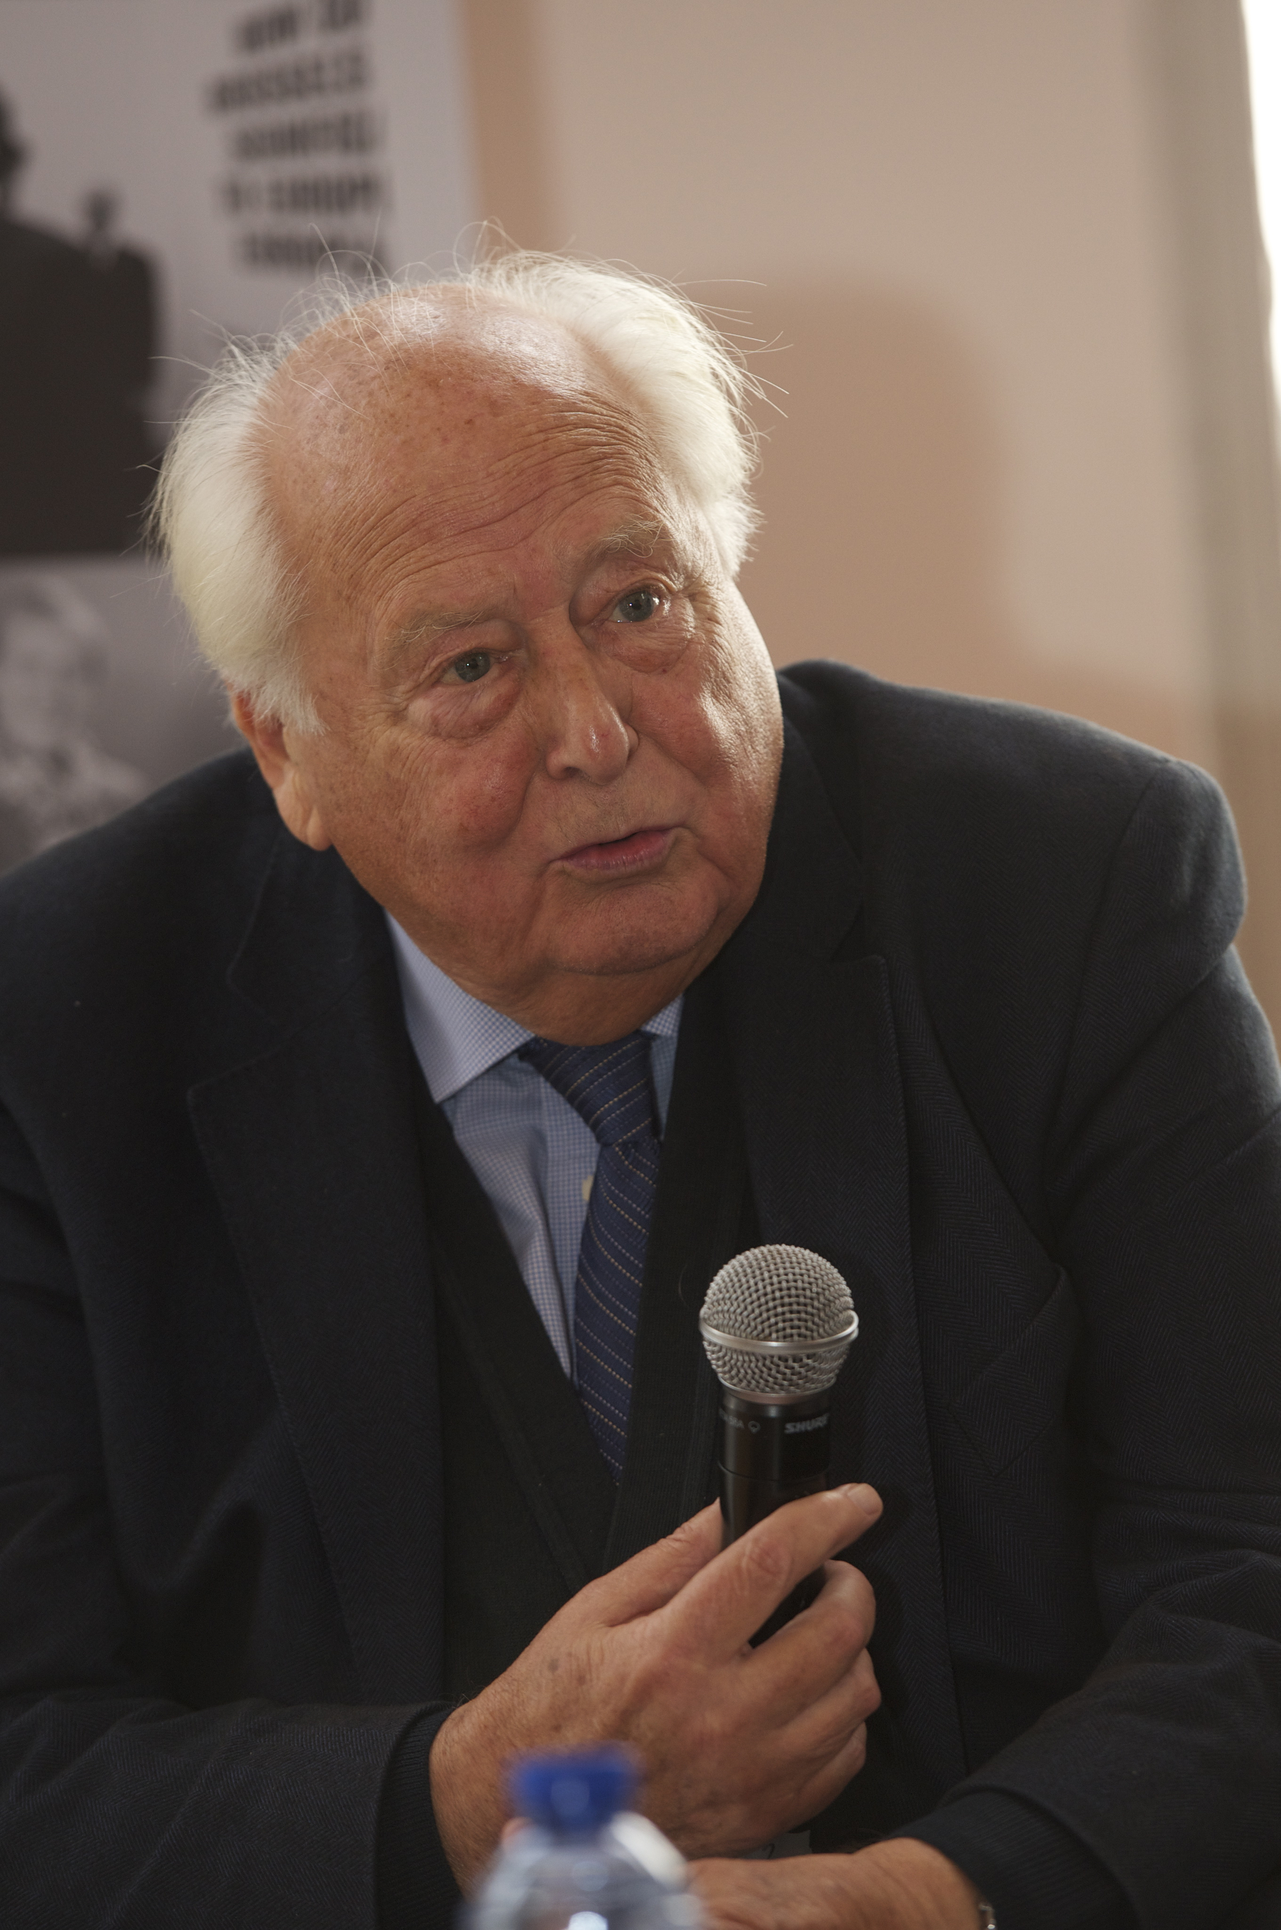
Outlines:
POLYGON ((170 442, 150 513, 203 654, 255 710, 299 731, 320 720, 293 633, 303 583, 286 569, 266 488, 264 392, 318 328, 368 311, 370 355, 421 340, 438 322, 440 286, 559 322, 635 398, 668 475, 702 513, 737 575, 756 527, 749 496, 756 438, 745 398, 758 392, 735 347, 702 311, 644 276, 559 255, 509 253, 432 284, 332 280, 301 320, 232 342, 170 442), (430 317, 430 318, 428 318, 430 317))

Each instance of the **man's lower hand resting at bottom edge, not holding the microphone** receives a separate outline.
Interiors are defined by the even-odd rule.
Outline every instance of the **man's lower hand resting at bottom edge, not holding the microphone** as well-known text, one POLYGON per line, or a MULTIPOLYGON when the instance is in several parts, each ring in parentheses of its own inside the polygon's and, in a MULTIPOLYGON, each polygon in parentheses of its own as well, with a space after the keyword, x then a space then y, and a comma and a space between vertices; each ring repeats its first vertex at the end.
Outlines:
POLYGON ((855 1857, 696 1862, 706 1930, 976 1930, 978 1891, 928 1843, 899 1837, 855 1857))

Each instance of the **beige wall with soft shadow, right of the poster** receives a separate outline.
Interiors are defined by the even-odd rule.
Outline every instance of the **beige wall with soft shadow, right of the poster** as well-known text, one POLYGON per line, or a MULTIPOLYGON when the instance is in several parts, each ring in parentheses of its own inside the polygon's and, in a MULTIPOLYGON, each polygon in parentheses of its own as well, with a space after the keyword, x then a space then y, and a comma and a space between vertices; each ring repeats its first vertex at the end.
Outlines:
MULTIPOLYGON (((1053 704, 1231 782, 1167 4, 467 0, 467 21, 484 214, 766 344, 783 413, 760 415, 745 591, 779 664, 1053 704)), ((1188 4, 1231 29, 1233 0, 1188 4)), ((1275 849, 1248 841, 1281 913, 1275 849)), ((1252 963, 1281 1015, 1281 950, 1252 963)))

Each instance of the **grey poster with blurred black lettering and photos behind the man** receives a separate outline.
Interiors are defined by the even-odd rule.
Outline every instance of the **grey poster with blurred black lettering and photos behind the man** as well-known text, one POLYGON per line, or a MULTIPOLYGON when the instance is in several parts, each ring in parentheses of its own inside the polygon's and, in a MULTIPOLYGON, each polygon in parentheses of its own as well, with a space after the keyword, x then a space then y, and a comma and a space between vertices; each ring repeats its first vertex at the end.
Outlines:
POLYGON ((226 334, 475 218, 451 0, 0 0, 0 868, 232 739, 139 542, 226 334))

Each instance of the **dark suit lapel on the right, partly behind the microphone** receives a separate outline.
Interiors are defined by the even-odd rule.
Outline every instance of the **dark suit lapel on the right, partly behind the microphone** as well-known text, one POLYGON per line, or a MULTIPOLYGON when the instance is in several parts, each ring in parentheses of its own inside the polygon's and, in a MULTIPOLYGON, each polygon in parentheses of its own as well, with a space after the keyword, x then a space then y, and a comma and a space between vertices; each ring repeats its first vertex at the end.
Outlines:
MULTIPOLYGON (((899 1056, 886 961, 845 959, 860 867, 787 728, 766 880, 722 957, 762 1241, 849 1280, 860 1336, 833 1401, 833 1478, 886 1502, 853 1552, 878 1598, 874 1654, 893 1758, 920 1795, 965 1774, 911 1264, 899 1056)), ((911 1801, 907 1791, 903 1797, 911 1801)), ((911 1814, 911 1808, 897 1808, 911 1814)))

